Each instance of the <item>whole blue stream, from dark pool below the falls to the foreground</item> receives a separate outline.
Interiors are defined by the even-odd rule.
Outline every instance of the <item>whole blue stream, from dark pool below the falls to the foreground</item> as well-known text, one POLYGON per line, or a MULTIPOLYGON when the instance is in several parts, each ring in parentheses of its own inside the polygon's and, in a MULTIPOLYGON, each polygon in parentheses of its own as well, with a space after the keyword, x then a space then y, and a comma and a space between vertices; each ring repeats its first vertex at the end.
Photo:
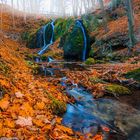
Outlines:
POLYGON ((47 78, 61 78, 60 84, 66 89, 66 93, 64 92, 64 94, 75 100, 74 103, 67 104, 67 111, 63 115, 62 120, 64 126, 83 135, 91 133, 94 136, 98 132, 102 132, 104 140, 139 140, 140 101, 138 100, 138 93, 136 94, 136 98, 123 96, 122 100, 121 97, 120 100, 113 97, 94 99, 89 91, 86 91, 86 89, 75 84, 73 81, 71 81, 71 84, 67 84, 67 81, 70 79, 67 79, 66 75, 62 73, 67 70, 86 71, 86 68, 80 63, 62 63, 48 58, 46 66, 44 68, 42 66, 41 73, 47 78), (130 103, 132 98, 137 101, 137 104, 135 104, 135 101, 132 103, 135 106, 130 103), (125 102, 126 99, 128 101, 125 102), (107 131, 104 129, 107 129, 107 131))

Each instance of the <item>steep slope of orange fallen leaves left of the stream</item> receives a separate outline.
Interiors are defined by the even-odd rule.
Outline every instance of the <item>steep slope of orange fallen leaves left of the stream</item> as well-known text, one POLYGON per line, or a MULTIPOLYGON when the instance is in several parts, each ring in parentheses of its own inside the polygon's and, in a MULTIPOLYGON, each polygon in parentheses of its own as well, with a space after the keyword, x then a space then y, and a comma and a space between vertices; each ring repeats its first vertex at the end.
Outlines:
POLYGON ((67 133, 72 135, 72 131, 61 126, 61 119, 52 114, 67 98, 57 86, 33 75, 33 68, 25 61, 29 49, 20 42, 20 34, 26 26, 36 28, 40 20, 30 17, 25 25, 22 17, 16 16, 13 28, 11 14, 5 12, 3 23, 0 33, 0 137, 43 140, 48 133, 51 138, 61 134, 67 139, 67 133))

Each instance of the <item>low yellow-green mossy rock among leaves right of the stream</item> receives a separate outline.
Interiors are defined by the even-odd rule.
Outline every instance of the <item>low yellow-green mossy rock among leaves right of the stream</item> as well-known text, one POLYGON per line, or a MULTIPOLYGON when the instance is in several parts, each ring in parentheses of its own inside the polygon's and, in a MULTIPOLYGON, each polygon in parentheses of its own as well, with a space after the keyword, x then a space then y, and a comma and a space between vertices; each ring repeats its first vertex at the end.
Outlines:
POLYGON ((132 92, 128 88, 117 85, 117 84, 106 85, 105 91, 106 91, 106 93, 112 94, 115 96, 132 94, 132 92))

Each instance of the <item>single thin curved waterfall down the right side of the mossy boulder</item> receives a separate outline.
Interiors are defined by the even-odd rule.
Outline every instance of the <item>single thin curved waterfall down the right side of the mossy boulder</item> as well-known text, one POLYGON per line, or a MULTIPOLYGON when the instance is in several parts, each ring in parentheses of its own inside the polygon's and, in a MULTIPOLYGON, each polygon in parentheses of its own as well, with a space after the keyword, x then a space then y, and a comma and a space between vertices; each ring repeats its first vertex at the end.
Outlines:
POLYGON ((83 56, 82 56, 82 60, 85 61, 86 60, 86 52, 87 52, 87 37, 86 37, 86 33, 85 33, 85 29, 81 23, 80 20, 76 21, 77 25, 81 28, 82 32, 83 32, 83 37, 84 37, 84 48, 83 48, 83 56))

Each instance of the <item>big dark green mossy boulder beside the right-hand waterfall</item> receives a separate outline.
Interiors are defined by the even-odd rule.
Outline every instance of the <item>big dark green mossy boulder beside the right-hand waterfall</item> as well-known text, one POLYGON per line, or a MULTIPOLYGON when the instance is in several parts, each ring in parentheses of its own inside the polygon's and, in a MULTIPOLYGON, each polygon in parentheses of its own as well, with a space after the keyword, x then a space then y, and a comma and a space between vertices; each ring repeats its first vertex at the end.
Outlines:
MULTIPOLYGON (((87 44, 89 44, 87 33, 86 33, 86 37, 87 37, 87 44)), ((82 29, 75 24, 71 32, 66 33, 61 37, 60 46, 63 47, 64 49, 64 58, 81 60, 83 56, 83 49, 84 49, 84 36, 83 36, 82 29)), ((90 47, 87 45, 86 55, 88 55, 89 50, 90 47)))

